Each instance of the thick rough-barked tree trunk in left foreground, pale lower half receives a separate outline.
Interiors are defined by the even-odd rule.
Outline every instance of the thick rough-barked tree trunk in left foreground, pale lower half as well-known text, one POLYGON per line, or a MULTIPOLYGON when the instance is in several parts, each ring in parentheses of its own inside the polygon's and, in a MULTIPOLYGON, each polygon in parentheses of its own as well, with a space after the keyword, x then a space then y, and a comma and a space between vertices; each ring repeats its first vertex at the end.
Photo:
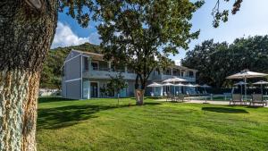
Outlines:
POLYGON ((40 71, 57 22, 57 1, 37 1, 0 2, 0 151, 37 150, 40 71))

